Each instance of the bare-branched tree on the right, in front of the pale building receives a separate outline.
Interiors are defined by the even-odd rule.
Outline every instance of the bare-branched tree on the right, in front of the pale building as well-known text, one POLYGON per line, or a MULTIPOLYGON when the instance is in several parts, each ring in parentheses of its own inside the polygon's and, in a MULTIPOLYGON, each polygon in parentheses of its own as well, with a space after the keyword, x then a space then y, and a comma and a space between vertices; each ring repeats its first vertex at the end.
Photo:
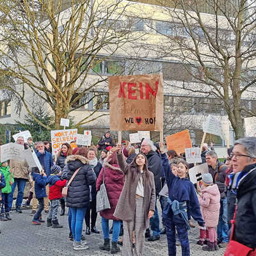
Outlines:
POLYGON ((154 45, 157 56, 179 62, 184 73, 171 85, 220 101, 236 138, 243 137, 243 118, 256 115, 243 103, 255 99, 256 1, 156 1, 169 28, 155 28, 164 38, 154 45))

